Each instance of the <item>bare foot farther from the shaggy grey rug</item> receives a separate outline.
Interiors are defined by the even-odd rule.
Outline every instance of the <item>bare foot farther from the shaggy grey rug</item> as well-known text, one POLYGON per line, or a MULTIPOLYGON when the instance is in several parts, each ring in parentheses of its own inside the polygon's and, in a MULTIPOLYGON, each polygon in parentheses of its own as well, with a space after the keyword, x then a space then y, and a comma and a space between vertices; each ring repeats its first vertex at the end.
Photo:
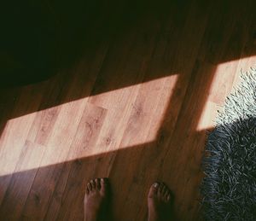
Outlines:
POLYGON ((107 216, 108 179, 90 180, 84 196, 84 221, 105 220, 107 216))

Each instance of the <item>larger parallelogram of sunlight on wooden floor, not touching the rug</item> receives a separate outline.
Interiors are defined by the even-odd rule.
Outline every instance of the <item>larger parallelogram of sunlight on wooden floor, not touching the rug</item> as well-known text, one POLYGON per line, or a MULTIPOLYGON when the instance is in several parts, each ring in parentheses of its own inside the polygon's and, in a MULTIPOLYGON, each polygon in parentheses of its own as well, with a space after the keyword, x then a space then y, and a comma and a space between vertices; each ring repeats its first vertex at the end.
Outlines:
POLYGON ((177 77, 154 79, 9 119, 0 139, 0 176, 154 142, 177 77), (100 131, 97 125, 80 125, 83 117, 94 117, 93 108, 106 111, 100 131))

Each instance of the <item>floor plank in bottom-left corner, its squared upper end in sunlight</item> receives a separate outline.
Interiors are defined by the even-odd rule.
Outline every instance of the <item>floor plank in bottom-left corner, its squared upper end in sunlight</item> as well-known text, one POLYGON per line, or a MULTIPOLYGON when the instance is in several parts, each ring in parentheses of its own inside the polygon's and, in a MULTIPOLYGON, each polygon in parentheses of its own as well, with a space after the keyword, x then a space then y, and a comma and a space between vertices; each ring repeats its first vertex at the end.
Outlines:
POLYGON ((17 220, 32 187, 40 160, 44 154, 44 146, 26 141, 22 147, 20 159, 13 175, 9 175, 10 183, 0 208, 1 220, 17 220))

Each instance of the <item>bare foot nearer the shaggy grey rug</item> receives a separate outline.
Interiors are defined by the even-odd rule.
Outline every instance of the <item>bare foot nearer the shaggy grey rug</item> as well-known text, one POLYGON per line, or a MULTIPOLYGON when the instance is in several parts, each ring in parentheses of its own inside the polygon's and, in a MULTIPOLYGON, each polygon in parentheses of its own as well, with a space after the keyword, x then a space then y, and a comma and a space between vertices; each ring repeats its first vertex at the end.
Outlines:
POLYGON ((154 183, 148 193, 148 221, 172 218, 171 190, 164 183, 154 183))

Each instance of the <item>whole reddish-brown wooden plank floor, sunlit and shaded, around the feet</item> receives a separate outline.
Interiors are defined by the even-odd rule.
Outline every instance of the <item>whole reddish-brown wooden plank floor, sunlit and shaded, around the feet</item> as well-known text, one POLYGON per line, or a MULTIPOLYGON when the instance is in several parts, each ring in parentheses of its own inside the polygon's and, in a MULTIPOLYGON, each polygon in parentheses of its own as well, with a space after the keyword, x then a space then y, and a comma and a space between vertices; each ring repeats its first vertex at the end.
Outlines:
POLYGON ((81 43, 53 78, 1 90, 0 220, 83 220, 95 177, 110 179, 114 220, 146 220, 157 180, 172 189, 177 220, 200 219, 206 131, 255 65, 255 5, 133 9, 99 16, 95 30, 108 20, 108 34, 81 43))

